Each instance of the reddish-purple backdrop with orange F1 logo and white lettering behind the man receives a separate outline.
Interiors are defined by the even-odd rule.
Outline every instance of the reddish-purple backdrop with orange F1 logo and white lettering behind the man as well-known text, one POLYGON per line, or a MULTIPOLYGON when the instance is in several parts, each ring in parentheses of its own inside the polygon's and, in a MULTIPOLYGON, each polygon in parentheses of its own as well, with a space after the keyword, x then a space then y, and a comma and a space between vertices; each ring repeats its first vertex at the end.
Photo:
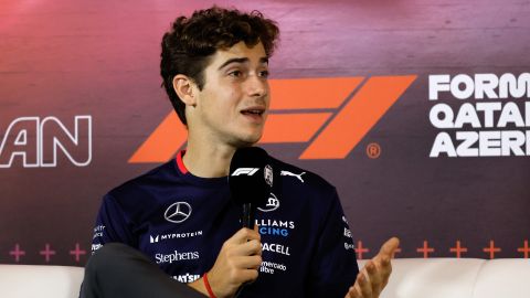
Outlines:
MULTIPOLYGON (((84 265, 100 198, 186 146, 159 44, 212 3, 0 2, 0 263, 84 265)), ((261 146, 337 187, 360 258, 528 257, 530 1, 216 3, 278 22, 261 146)))

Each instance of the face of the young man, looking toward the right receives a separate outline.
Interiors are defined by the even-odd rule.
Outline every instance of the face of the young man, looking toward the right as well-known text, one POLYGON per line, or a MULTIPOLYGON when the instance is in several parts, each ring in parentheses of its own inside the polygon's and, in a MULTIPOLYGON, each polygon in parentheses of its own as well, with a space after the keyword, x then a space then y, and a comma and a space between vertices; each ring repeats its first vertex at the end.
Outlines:
POLYGON ((204 86, 189 115, 190 134, 233 147, 257 142, 269 105, 268 58, 262 43, 218 50, 203 75, 204 86))

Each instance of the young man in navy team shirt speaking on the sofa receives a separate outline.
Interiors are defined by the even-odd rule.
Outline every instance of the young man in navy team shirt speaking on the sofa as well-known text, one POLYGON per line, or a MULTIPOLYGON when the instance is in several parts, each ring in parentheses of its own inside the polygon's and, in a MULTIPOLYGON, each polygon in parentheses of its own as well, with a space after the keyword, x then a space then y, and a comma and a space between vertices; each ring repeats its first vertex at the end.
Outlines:
MULTIPOLYGON (((165 34, 161 75, 188 128, 187 150, 104 198, 93 242, 97 252, 87 265, 91 280, 85 278, 93 296, 86 297, 104 296, 94 280, 103 283, 98 267, 108 263, 98 256, 107 247, 113 253, 106 259, 124 255, 112 242, 140 251, 173 279, 210 297, 379 297, 398 241, 383 245, 359 274, 337 192, 314 173, 272 158, 282 172, 279 187, 258 209, 255 228, 241 228, 241 207, 231 200, 226 177, 235 150, 262 137, 277 36, 276 24, 258 12, 216 7, 178 18, 165 34)), ((138 259, 135 251, 125 255, 138 259)), ((157 276, 157 270, 139 272, 157 276)), ((178 284, 153 279, 138 277, 129 286, 155 290, 178 284)))

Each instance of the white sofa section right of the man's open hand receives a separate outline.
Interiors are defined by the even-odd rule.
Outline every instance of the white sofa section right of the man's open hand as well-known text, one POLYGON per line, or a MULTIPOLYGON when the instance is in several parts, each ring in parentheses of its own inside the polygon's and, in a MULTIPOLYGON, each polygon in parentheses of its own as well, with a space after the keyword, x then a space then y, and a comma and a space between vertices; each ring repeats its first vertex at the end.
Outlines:
MULTIPOLYGON (((364 262, 359 262, 361 267, 364 262)), ((400 258, 381 298, 529 298, 530 259, 400 258)))

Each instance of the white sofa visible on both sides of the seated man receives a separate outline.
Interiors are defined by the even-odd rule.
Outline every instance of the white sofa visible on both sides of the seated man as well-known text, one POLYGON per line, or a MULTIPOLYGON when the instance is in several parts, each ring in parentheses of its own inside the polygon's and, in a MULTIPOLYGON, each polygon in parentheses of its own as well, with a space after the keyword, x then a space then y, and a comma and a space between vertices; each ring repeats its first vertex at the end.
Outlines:
MULTIPOLYGON (((400 258, 392 264, 381 298, 530 297, 530 259, 400 258)), ((0 265, 0 297, 74 298, 82 279, 81 267, 0 265)))

